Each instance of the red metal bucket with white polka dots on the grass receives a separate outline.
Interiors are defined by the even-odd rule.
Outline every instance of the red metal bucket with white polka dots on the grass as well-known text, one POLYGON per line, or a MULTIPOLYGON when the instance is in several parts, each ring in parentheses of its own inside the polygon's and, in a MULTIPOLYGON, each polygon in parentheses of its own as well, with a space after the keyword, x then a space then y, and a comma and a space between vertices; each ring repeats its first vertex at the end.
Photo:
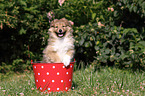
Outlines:
POLYGON ((33 66, 36 88, 41 92, 68 91, 72 86, 73 67, 71 62, 68 67, 63 63, 34 63, 33 66))

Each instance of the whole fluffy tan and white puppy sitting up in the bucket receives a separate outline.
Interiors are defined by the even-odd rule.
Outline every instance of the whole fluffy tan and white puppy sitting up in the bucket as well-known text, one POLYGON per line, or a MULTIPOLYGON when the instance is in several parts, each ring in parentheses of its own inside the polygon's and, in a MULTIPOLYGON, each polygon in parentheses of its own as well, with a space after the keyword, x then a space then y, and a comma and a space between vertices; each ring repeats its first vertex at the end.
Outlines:
POLYGON ((65 18, 50 24, 48 45, 43 50, 43 62, 62 62, 67 67, 74 55, 73 22, 65 18))

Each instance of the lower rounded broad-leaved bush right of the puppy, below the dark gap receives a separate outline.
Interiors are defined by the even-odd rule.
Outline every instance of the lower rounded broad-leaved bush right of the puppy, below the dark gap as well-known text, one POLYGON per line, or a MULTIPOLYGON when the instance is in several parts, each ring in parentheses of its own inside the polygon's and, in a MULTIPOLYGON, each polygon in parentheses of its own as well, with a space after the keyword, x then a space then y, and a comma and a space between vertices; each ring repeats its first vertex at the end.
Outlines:
POLYGON ((135 28, 111 25, 99 28, 97 23, 93 23, 77 28, 75 33, 78 33, 78 57, 84 57, 86 61, 95 56, 97 64, 115 64, 121 68, 144 67, 145 41, 135 28))

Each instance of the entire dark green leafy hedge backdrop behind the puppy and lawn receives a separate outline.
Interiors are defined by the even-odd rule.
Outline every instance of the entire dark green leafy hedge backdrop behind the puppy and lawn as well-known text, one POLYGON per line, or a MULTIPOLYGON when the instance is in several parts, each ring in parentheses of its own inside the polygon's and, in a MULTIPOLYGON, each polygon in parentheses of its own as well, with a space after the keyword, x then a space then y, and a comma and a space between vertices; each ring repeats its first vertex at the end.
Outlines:
POLYGON ((30 69, 41 60, 49 19, 74 22, 77 62, 145 68, 144 0, 1 0, 0 71, 30 69))

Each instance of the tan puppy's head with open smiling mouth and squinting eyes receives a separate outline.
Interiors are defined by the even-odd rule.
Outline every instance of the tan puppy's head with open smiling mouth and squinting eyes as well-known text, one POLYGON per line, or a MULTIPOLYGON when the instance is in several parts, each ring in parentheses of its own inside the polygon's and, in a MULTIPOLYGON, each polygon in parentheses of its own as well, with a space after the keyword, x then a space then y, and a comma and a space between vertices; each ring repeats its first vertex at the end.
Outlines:
POLYGON ((68 21, 65 18, 55 19, 50 24, 49 32, 55 38, 65 37, 67 34, 71 33, 72 21, 68 21))

